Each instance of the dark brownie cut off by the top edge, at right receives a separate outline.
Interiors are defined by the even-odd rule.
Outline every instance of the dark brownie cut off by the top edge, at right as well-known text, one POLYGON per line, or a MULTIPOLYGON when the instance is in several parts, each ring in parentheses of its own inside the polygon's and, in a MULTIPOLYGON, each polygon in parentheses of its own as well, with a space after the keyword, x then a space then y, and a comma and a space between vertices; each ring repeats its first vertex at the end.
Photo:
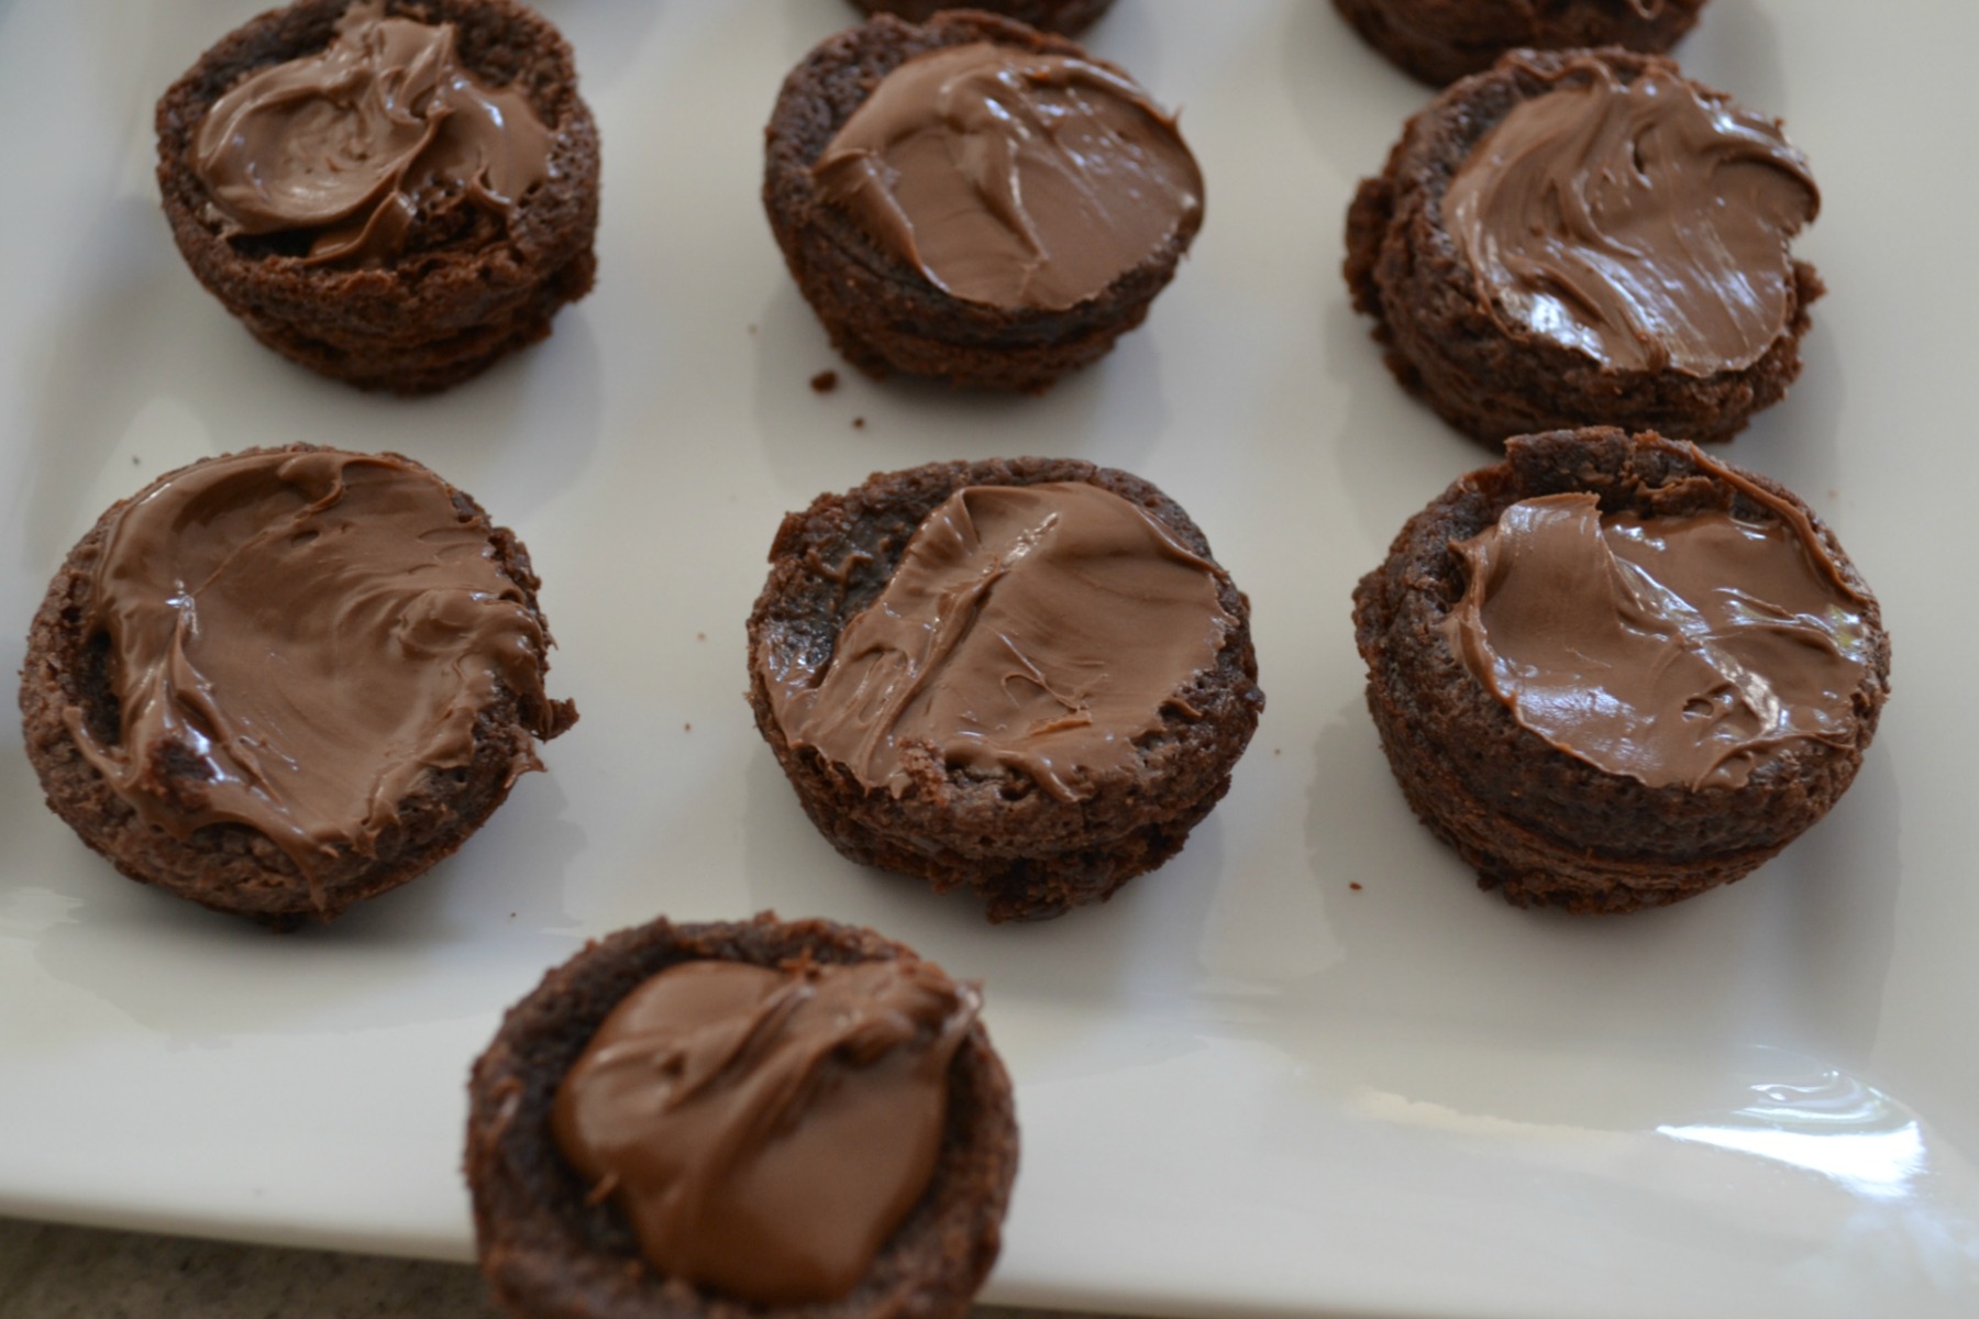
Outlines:
POLYGON ((1704 0, 1334 0, 1367 45, 1443 87, 1510 49, 1621 45, 1662 53, 1698 22, 1704 0))

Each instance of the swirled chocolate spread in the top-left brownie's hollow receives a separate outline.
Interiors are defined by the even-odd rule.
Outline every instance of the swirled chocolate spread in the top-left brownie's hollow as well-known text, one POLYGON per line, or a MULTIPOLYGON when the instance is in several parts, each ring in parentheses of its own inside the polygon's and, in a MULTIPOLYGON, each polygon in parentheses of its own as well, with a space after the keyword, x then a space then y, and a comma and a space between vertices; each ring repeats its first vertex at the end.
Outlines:
POLYGON ((461 67, 453 38, 358 0, 325 49, 236 83, 192 144, 226 233, 297 231, 309 263, 376 263, 451 196, 513 220, 552 174, 554 134, 520 91, 461 67))

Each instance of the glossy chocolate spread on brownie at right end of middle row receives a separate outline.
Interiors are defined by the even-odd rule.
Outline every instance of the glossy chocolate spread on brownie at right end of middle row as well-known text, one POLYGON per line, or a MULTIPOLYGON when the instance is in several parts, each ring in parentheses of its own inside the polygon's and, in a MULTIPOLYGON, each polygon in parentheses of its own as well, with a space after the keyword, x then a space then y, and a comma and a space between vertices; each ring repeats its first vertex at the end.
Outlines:
POLYGON ((1852 746, 1864 601, 1801 510, 1742 490, 1781 516, 1512 504, 1453 546, 1468 583, 1451 649, 1524 728, 1649 787, 1742 787, 1783 747, 1852 746))

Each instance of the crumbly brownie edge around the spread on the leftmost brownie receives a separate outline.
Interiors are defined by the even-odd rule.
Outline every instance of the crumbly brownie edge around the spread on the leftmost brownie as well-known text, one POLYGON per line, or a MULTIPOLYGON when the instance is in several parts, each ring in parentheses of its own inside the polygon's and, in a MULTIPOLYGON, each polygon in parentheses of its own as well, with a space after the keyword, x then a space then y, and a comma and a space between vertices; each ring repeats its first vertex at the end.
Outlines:
MULTIPOLYGON (((297 453, 307 449, 293 447, 297 453)), ((160 477, 160 483, 172 475, 176 473, 160 477)), ((513 532, 489 522, 471 496, 449 490, 455 508, 487 530, 495 566, 515 581, 522 605, 542 623, 536 605, 540 583, 530 570, 528 550, 513 532)), ((28 759, 42 779, 47 807, 139 884, 154 884, 216 912, 247 916, 271 929, 330 920, 350 904, 398 888, 451 856, 509 797, 515 779, 536 763, 530 730, 546 726, 554 738, 576 722, 570 702, 550 702, 542 710, 497 682, 495 698, 475 718, 473 759, 461 767, 424 773, 398 803, 398 821, 380 833, 372 850, 336 844, 336 854, 321 862, 315 880, 267 835, 247 825, 204 825, 184 838, 172 836, 148 825, 111 789, 83 757, 63 720, 65 710, 79 710, 85 728, 103 746, 117 746, 121 740, 109 639, 91 631, 87 619, 97 560, 113 518, 129 502, 119 500, 97 520, 49 583, 28 633, 20 710, 28 759)), ((164 783, 176 779, 194 793, 200 785, 198 765, 192 761, 168 763, 158 777, 164 783)))

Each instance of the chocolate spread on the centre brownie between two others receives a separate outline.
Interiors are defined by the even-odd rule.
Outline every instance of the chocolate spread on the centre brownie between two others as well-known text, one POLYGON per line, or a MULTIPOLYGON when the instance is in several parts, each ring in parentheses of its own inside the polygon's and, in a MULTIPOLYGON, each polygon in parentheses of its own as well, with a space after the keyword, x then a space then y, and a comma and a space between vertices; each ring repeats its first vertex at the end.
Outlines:
POLYGON ((1235 621, 1217 568, 1084 483, 968 486, 914 532, 829 666, 764 655, 792 747, 896 797, 914 765, 1017 771, 1059 801, 1134 763, 1134 740, 1235 621), (932 757, 932 759, 930 759, 932 757))

